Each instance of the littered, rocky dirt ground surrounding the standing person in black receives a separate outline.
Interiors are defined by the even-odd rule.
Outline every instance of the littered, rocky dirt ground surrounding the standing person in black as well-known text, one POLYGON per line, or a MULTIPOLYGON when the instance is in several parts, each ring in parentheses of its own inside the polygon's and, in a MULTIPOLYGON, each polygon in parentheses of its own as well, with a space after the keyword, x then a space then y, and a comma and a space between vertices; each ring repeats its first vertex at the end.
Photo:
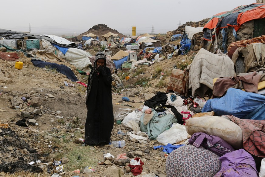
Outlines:
MULTIPOLYGON (((144 73, 132 77, 128 81, 123 80, 124 85, 126 88, 130 88, 130 85, 134 85, 134 82, 139 78, 150 78, 154 75, 158 66, 162 68, 163 72, 171 73, 175 64, 190 60, 194 55, 195 53, 191 52, 189 55, 166 59, 151 66, 141 66, 144 69, 144 73)), ((121 173, 124 166, 98 165, 98 162, 104 161, 103 157, 106 153, 110 153, 116 158, 118 154, 139 150, 143 152, 140 157, 145 164, 143 172, 154 172, 158 176, 165 176, 165 158, 161 152, 162 149, 159 151, 153 149, 154 145, 161 144, 157 141, 149 141, 149 144, 131 142, 126 135, 117 134, 118 130, 122 130, 124 133, 130 131, 122 124, 117 125, 114 122, 111 140, 125 140, 126 146, 124 148, 85 147, 82 144, 74 143, 75 139, 83 138, 82 130, 87 116, 85 106, 86 88, 76 82, 71 82, 63 74, 33 66, 30 61, 31 58, 25 57, 23 53, 19 53, 19 57, 19 61, 23 62, 21 70, 15 69, 15 61, 3 61, 0 59, 0 92, 2 93, 0 95, 0 122, 8 123, 10 127, 10 129, 0 128, 0 145, 2 146, 0 148, 0 172, 8 172, 5 173, 7 176, 12 176, 15 172, 16 176, 20 173, 23 174, 21 170, 25 170, 31 172, 31 175, 28 176, 51 176, 53 173, 60 172, 57 172, 54 166, 47 166, 46 163, 60 160, 60 154, 56 154, 58 151, 62 155, 69 154, 73 149, 80 149, 80 151, 87 149, 87 157, 90 158, 90 161, 78 168, 81 170, 85 166, 93 166, 95 172, 80 174, 80 176, 133 176, 132 173, 121 173), (75 86, 66 86, 64 84, 65 81, 75 86), (25 101, 20 105, 19 109, 15 109, 10 101, 15 96, 25 97, 28 99, 27 101, 34 97, 40 97, 41 105, 32 107, 29 102, 25 101), (30 117, 25 119, 35 119, 38 125, 29 125, 28 127, 16 125, 18 121, 23 120, 21 112, 31 113, 35 109, 39 109, 41 113, 31 114, 30 117), (71 131, 74 132, 74 136, 69 133, 71 131), (59 140, 60 134, 64 135, 64 139, 59 140), (50 140, 45 138, 47 135, 57 137, 50 140), (41 163, 28 164, 37 160, 41 160, 41 163)), ((53 62, 65 64, 74 71, 79 81, 87 82, 87 78, 84 75, 80 75, 73 65, 58 61, 53 62)), ((165 82, 168 82, 169 77, 170 74, 165 76, 165 82)), ((118 103, 123 96, 127 96, 126 90, 113 93, 113 112, 115 113, 119 108, 135 110, 143 105, 142 102, 145 99, 151 98, 156 92, 165 92, 165 87, 155 87, 158 82, 159 77, 151 80, 148 88, 133 86, 133 88, 127 89, 139 91, 139 94, 135 95, 135 97, 129 97, 134 102, 118 103)), ((76 166, 74 165, 66 165, 61 176, 76 175, 76 173, 72 172, 75 168, 76 166)))

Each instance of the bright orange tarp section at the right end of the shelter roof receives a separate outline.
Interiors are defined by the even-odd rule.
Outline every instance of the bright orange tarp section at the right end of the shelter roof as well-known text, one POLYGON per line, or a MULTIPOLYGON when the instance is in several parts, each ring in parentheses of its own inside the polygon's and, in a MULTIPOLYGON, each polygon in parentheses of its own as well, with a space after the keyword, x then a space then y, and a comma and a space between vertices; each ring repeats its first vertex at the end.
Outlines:
POLYGON ((253 19, 263 19, 265 18, 265 11, 264 11, 265 5, 261 5, 259 7, 256 7, 254 9, 250 9, 246 12, 241 12, 238 16, 237 16, 237 26, 234 27, 235 30, 239 30, 240 26, 243 23, 246 23, 250 20, 253 19))

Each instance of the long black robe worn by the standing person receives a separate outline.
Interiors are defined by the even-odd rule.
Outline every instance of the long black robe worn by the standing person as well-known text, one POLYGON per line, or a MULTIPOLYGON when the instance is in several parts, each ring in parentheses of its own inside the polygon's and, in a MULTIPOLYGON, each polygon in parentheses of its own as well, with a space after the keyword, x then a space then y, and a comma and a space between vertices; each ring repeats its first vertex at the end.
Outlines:
MULTIPOLYGON (((104 67, 99 75, 93 74, 90 94, 86 101, 87 120, 85 124, 85 144, 109 144, 114 124, 112 97, 111 97, 111 71, 104 67)), ((90 78, 88 79, 88 84, 90 78)))

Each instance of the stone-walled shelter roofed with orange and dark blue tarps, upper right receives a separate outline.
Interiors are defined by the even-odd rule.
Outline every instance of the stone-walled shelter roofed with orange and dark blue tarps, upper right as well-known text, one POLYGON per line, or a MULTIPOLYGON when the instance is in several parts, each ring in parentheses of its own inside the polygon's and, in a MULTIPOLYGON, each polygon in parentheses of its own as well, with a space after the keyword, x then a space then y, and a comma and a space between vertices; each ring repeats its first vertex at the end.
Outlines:
MULTIPOLYGON (((222 39, 222 44, 218 48, 226 53, 227 46, 231 42, 264 35, 264 27, 265 4, 241 5, 231 11, 212 16, 204 26, 203 39, 204 42, 216 42, 216 46, 219 45, 217 41, 222 39)), ((210 49, 207 48, 207 50, 210 49)))

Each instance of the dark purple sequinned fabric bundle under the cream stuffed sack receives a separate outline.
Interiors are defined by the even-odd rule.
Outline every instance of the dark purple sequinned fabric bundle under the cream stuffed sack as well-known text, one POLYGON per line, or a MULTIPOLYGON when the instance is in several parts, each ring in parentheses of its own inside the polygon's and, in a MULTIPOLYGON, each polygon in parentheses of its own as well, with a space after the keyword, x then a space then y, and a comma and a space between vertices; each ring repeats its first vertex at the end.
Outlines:
POLYGON ((189 144, 193 144, 197 148, 204 147, 219 156, 235 151, 235 149, 222 138, 202 132, 193 134, 189 139, 189 144))

